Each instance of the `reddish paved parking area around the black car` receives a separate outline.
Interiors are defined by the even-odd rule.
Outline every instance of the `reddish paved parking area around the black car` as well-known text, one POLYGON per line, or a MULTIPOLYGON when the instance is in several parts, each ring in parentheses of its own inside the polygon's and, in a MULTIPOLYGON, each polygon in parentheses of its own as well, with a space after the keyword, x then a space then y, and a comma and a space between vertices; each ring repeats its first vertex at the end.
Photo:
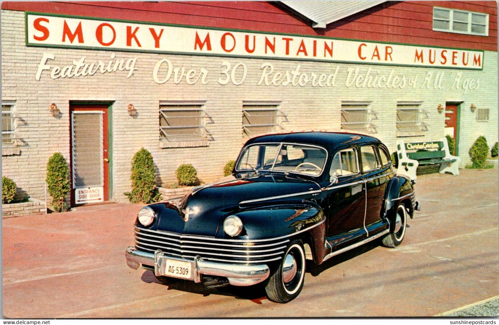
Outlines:
POLYGON ((261 291, 157 282, 126 266, 140 205, 2 220, 7 318, 434 316, 499 295, 498 170, 418 176, 422 210, 397 249, 369 243, 319 267, 288 304, 261 291))

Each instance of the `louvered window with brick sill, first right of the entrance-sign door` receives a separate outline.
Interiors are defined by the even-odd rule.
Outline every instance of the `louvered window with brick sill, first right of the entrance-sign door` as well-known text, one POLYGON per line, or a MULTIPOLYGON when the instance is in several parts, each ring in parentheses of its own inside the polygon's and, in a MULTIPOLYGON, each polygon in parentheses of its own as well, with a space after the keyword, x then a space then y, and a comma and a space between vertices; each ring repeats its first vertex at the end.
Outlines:
POLYGON ((204 102, 160 102, 160 137, 168 141, 206 140, 209 115, 204 102))

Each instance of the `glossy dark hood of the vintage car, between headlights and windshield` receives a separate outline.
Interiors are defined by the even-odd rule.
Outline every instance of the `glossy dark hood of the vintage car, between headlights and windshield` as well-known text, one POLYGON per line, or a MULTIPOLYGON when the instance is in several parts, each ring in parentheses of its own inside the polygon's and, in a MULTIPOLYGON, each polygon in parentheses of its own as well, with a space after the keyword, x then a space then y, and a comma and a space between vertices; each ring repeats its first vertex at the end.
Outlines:
MULTIPOLYGON (((175 212, 171 211, 171 204, 163 203, 161 210, 170 211, 158 211, 160 213, 156 226, 159 230, 225 238, 223 222, 227 216, 237 214, 242 209, 254 209, 255 205, 261 206, 265 201, 307 199, 312 195, 309 192, 315 190, 320 190, 317 183, 294 176, 254 173, 239 174, 237 177, 230 175, 194 188, 175 212), (251 202, 258 199, 263 200, 251 202)), ((159 204, 162 203, 157 203, 159 204)))

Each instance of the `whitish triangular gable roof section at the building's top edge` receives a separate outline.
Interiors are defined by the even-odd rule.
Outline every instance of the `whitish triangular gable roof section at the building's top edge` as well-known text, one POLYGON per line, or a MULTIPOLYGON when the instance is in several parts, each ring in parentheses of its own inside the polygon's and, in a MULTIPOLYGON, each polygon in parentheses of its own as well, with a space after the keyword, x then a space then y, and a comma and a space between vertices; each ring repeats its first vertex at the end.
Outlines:
POLYGON ((312 20, 314 28, 326 28, 328 23, 348 17, 386 1, 380 0, 336 0, 336 1, 308 1, 284 0, 280 1, 302 16, 312 20))

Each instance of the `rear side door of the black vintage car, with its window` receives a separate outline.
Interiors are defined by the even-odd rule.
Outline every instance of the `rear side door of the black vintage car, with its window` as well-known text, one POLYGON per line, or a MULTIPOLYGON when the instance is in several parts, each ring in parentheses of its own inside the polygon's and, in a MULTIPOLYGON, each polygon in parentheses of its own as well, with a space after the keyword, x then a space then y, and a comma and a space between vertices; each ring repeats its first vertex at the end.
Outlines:
MULTIPOLYGON (((386 156, 386 153, 383 154, 386 156)), ((381 220, 381 209, 392 170, 386 162, 387 157, 384 157, 384 162, 381 163, 378 148, 375 145, 361 146, 360 155, 367 191, 365 227, 368 236, 372 236, 384 229, 380 229, 384 226, 381 220)))

